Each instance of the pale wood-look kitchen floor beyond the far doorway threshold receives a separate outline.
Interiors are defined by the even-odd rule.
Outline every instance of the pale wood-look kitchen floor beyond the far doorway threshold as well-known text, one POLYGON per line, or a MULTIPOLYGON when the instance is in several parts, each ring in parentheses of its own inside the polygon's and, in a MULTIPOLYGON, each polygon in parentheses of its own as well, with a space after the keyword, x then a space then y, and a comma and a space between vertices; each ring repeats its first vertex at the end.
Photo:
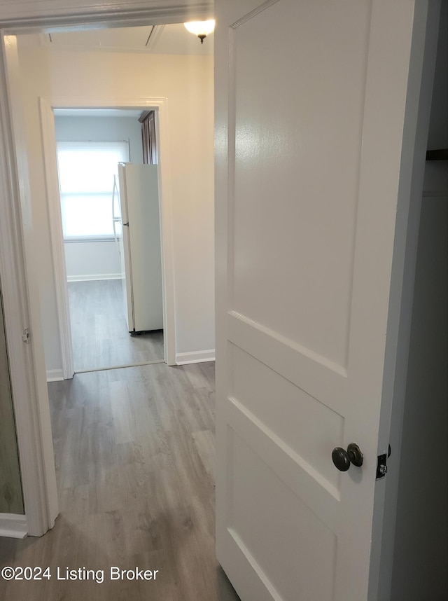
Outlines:
POLYGON ((127 331, 120 279, 68 286, 75 371, 163 361, 162 331, 127 331))

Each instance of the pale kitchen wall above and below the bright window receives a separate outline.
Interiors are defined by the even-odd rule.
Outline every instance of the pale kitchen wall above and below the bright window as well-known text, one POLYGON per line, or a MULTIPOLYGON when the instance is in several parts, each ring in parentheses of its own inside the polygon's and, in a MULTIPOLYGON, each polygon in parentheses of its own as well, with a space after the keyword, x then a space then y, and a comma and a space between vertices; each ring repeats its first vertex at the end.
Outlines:
MULTIPOLYGON (((58 116, 57 141, 129 141, 130 162, 143 163, 141 123, 136 116, 58 116)), ((111 183, 112 186, 112 183, 111 183)), ((109 279, 120 277, 120 254, 115 241, 66 242, 67 279, 109 279)))

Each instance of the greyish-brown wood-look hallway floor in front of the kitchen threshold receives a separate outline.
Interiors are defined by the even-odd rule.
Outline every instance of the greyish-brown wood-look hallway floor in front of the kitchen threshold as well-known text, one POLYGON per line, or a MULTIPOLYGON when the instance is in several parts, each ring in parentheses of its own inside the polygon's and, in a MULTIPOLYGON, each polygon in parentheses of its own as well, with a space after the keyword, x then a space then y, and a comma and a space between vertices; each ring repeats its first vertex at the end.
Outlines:
POLYGON ((214 551, 214 364, 76 374, 49 385, 60 515, 40 539, 0 539, 5 601, 237 601, 214 551), (158 569, 109 581, 109 567, 158 569), (62 581, 57 566, 105 570, 62 581))

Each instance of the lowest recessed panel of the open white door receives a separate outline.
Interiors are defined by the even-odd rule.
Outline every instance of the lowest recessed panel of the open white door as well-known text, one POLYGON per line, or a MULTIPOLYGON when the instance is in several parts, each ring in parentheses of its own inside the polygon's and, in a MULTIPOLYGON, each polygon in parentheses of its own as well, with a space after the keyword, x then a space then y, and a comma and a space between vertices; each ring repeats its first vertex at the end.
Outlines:
POLYGON ((334 532, 231 430, 229 452, 233 476, 229 528, 235 544, 251 556, 258 574, 280 598, 332 600, 337 545, 334 532), (304 546, 303 540, 309 544, 304 546), (281 546, 289 553, 278 562, 276 553, 281 546), (310 586, 306 576, 316 565, 321 567, 322 577, 310 586))

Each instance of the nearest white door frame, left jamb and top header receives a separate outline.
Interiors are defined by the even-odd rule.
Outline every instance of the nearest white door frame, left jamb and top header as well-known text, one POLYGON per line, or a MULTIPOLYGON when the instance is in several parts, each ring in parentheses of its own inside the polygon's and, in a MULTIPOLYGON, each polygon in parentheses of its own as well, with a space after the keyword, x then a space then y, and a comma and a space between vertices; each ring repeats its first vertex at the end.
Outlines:
MULTIPOLYGON (((29 202, 29 170, 23 125, 11 97, 19 72, 15 34, 101 24, 102 27, 153 25, 211 18, 211 0, 27 0, 1 4, 0 16, 0 278, 3 294, 10 382, 13 392, 25 516, 16 535, 42 536, 59 513, 52 449, 50 406, 45 375, 41 309, 33 269, 35 227, 29 202), (8 55, 8 62, 7 62, 8 55), (22 334, 31 330, 25 343, 22 334)), ((1 516, 0 516, 1 517, 1 516)), ((13 533, 14 534, 14 533, 13 533)), ((13 535, 12 534, 12 535, 13 535)))

